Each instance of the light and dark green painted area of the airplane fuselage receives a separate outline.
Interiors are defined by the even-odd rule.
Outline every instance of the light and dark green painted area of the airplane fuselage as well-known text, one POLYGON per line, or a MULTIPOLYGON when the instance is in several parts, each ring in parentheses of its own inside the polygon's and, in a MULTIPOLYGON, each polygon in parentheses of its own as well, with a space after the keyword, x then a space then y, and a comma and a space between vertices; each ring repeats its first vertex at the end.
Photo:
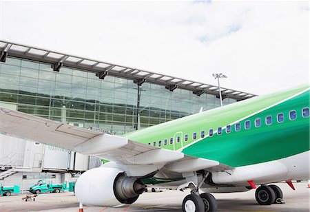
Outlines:
MULTIPOLYGON (((189 136, 189 140, 183 142, 183 147, 192 144, 183 149, 185 154, 218 160, 232 167, 240 167, 276 160, 309 150, 309 118, 300 119, 301 107, 309 107, 308 86, 291 89, 286 92, 278 92, 269 96, 259 96, 243 100, 239 103, 212 109, 201 114, 194 114, 161 125, 134 131, 124 136, 130 140, 145 144, 148 142, 153 143, 154 141, 158 142, 158 140, 163 142, 165 139, 169 143, 169 138, 174 137, 176 132, 182 131, 183 137, 185 134, 189 136), (308 89, 308 91, 284 101, 305 89, 308 89), (275 106, 271 107, 272 105, 275 106), (267 109, 268 107, 271 108, 267 109), (298 119, 288 122, 288 113, 291 109, 296 109, 298 119), (276 123, 276 114, 279 112, 285 114, 285 123, 276 123), (266 126, 264 124, 265 116, 268 115, 273 116, 273 125, 266 126), (259 128, 254 127, 254 119, 256 117, 262 118, 262 126, 259 128), (235 132, 233 129, 230 134, 226 134, 225 130, 223 130, 222 135, 206 137, 199 142, 192 138, 194 132, 200 138, 201 130, 204 130, 207 135, 209 129, 216 130, 218 127, 225 127, 244 118, 251 120, 251 129, 245 130, 244 121, 241 121, 241 131, 235 132), (279 140, 282 140, 282 142, 279 140), (294 145, 293 142, 296 142, 296 144, 294 145)), ((173 147, 173 145, 162 146, 165 149, 173 149, 173 147)))

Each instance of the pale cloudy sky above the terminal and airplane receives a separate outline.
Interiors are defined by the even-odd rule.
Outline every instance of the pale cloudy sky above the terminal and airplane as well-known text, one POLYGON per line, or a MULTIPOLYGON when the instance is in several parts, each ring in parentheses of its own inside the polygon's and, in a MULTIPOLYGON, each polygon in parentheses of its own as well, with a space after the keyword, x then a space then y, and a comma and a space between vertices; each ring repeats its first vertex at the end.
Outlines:
POLYGON ((309 1, 3 1, 0 39, 252 94, 309 84, 309 1))

